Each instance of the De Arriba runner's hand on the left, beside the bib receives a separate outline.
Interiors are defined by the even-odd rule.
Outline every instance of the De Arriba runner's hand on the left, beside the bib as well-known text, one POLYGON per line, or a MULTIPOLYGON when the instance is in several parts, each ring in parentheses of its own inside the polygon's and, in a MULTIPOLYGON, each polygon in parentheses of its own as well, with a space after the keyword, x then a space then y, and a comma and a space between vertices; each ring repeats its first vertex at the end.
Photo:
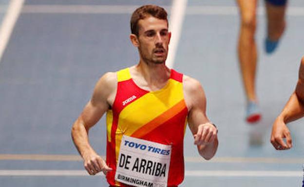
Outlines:
POLYGON ((90 175, 95 175, 100 171, 106 175, 108 171, 112 171, 112 168, 107 166, 106 162, 95 152, 85 154, 83 160, 84 168, 90 175))

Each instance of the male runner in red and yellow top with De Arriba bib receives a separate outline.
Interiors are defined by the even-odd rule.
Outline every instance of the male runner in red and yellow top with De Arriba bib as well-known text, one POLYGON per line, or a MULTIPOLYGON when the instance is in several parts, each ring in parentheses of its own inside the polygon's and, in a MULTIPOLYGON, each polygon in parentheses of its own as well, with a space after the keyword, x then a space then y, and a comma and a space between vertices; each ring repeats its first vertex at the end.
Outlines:
POLYGON ((184 179, 187 122, 199 154, 207 160, 217 150, 217 129, 206 116, 200 83, 165 65, 171 37, 167 12, 155 5, 136 9, 131 31, 139 63, 100 78, 92 99, 73 125, 72 137, 85 169, 91 175, 103 171, 111 187, 152 183, 177 187, 184 179), (106 161, 88 140, 89 129, 104 113, 106 161))

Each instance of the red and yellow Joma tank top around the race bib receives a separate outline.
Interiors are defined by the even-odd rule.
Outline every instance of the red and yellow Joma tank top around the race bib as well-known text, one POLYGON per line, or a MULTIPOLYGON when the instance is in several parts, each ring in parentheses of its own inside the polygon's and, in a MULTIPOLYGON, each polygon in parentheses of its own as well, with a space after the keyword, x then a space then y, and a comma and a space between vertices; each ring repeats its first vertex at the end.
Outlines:
POLYGON ((183 94, 183 74, 171 69, 167 85, 157 91, 137 86, 129 68, 117 71, 117 92, 107 111, 107 164, 113 169, 107 180, 111 186, 127 187, 114 180, 123 135, 171 145, 168 186, 184 179, 183 142, 188 109, 183 94))

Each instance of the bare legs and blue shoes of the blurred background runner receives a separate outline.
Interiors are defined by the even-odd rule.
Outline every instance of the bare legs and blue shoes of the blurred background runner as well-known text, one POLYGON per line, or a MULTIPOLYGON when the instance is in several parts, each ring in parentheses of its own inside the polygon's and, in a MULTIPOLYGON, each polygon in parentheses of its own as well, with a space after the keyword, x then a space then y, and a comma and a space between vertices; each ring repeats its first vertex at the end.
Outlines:
MULTIPOLYGON (((238 41, 238 58, 247 98, 246 120, 249 123, 261 119, 255 92, 257 49, 255 43, 256 9, 258 0, 237 0, 241 13, 238 41)), ((285 29, 287 0, 265 0, 267 13, 267 36, 265 50, 272 53, 285 29)))

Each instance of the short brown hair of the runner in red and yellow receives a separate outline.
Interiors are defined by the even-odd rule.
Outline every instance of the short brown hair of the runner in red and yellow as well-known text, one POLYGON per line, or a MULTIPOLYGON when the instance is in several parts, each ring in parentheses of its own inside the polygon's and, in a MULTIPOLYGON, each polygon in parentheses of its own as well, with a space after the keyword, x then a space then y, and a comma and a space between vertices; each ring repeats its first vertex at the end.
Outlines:
POLYGON ((168 14, 164 8, 152 4, 144 5, 137 8, 132 14, 130 20, 131 33, 138 36, 138 30, 139 30, 138 21, 140 19, 145 19, 146 17, 149 16, 156 17, 158 19, 167 20, 168 23, 168 19, 167 19, 168 14))

